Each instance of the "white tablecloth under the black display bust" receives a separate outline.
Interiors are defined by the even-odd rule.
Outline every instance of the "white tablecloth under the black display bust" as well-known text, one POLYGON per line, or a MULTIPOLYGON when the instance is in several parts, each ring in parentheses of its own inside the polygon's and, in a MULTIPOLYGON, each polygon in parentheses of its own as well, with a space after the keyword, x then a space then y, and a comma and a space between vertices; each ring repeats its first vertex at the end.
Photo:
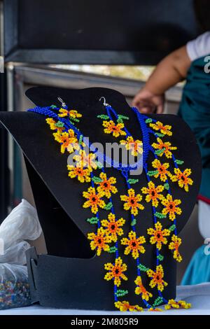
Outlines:
POLYGON ((186 300, 192 304, 191 309, 170 309, 162 312, 120 312, 120 311, 88 311, 82 309, 52 309, 31 305, 17 309, 5 309, 0 315, 209 315, 210 314, 210 283, 201 283, 195 286, 177 286, 177 300, 186 300))

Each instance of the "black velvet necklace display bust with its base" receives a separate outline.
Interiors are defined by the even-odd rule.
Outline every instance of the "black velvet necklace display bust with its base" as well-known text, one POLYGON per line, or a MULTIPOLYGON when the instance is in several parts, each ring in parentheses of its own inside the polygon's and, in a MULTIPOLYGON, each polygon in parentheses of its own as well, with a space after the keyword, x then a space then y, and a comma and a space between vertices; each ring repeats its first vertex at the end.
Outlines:
MULTIPOLYGON (((105 97, 118 113, 129 116, 127 129, 135 139, 141 140, 141 130, 137 116, 130 110, 125 97, 120 92, 105 88, 87 88, 84 90, 66 90, 55 87, 32 87, 26 92, 27 97, 38 106, 60 106, 57 97, 82 113, 80 131, 91 142, 113 143, 110 135, 105 135, 102 129, 102 120, 97 115, 104 112, 100 97, 105 97)), ((177 227, 180 232, 186 225, 196 202, 200 187, 201 160, 193 132, 181 118, 173 115, 150 114, 148 117, 158 118, 163 124, 172 125, 173 136, 167 140, 177 146, 176 158, 184 160, 184 167, 192 169, 193 186, 186 193, 178 184, 172 183, 174 198, 181 199, 182 214, 177 218, 177 227)), ((69 179, 66 170, 67 156, 59 151, 59 144, 52 137, 45 117, 31 112, 1 112, 1 123, 12 134, 25 155, 27 171, 34 201, 38 211, 38 218, 43 228, 48 255, 36 255, 34 248, 27 252, 29 280, 32 302, 39 302, 45 307, 59 307, 71 309, 104 309, 113 310, 113 285, 103 279, 104 263, 111 262, 113 255, 104 253, 101 257, 94 255, 87 241, 87 232, 90 224, 86 218, 90 211, 83 209, 82 192, 84 184, 69 179)), ((148 163, 150 162, 148 158, 148 163)), ((166 162, 169 162, 167 159, 166 162)), ((125 181, 118 170, 108 168, 109 176, 116 176, 118 181, 118 195, 126 193, 125 181)), ((138 176, 139 186, 146 186, 146 176, 138 176)), ((125 216, 119 197, 113 196, 118 218, 125 216)), ((144 204, 141 235, 146 235, 148 223, 153 226, 151 204, 144 204)), ((129 229, 129 224, 126 230, 129 229)), ((189 232, 192 234, 192 232, 189 232)), ((148 267, 155 266, 155 247, 147 241, 144 263, 148 267)), ((165 281, 168 286, 164 290, 167 299, 176 297, 176 261, 172 252, 165 246, 161 251, 164 255, 162 266, 165 269, 165 281)), ((184 256, 184 255, 183 255, 184 256)), ((127 300, 132 304, 144 304, 141 298, 134 294, 134 278, 136 267, 129 265, 125 287, 130 291, 127 300)), ((148 283, 147 283, 148 286, 148 283)))

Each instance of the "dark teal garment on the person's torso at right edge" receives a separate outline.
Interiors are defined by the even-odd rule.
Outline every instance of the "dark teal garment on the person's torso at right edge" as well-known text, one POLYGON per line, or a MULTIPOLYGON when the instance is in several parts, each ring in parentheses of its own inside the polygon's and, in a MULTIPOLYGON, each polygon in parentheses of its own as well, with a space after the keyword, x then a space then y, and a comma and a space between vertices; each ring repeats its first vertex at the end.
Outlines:
MULTIPOLYGON (((206 56, 205 56, 206 57, 206 56)), ((192 62, 179 108, 179 116, 193 130, 202 155, 200 195, 210 200, 210 73, 204 58, 192 62)), ((193 155, 192 155, 193 160, 193 155)))

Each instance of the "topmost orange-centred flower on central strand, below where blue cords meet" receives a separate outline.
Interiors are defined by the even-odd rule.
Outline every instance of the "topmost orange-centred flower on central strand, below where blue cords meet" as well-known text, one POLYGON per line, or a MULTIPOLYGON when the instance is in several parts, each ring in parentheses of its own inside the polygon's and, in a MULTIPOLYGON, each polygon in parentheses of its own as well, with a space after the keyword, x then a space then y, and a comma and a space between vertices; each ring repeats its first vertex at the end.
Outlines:
POLYGON ((140 194, 135 195, 135 191, 133 188, 130 188, 127 191, 128 195, 120 195, 120 200, 125 201, 124 209, 130 210, 131 213, 136 216, 138 214, 138 209, 143 210, 144 206, 139 202, 142 200, 142 196, 140 194))

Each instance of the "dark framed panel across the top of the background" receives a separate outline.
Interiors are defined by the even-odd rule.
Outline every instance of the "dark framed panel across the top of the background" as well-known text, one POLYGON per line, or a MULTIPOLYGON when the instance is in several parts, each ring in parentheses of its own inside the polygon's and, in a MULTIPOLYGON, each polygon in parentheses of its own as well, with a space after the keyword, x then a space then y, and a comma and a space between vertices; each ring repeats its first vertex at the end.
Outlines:
POLYGON ((151 65, 199 32, 193 0, 4 3, 6 60, 151 65))

